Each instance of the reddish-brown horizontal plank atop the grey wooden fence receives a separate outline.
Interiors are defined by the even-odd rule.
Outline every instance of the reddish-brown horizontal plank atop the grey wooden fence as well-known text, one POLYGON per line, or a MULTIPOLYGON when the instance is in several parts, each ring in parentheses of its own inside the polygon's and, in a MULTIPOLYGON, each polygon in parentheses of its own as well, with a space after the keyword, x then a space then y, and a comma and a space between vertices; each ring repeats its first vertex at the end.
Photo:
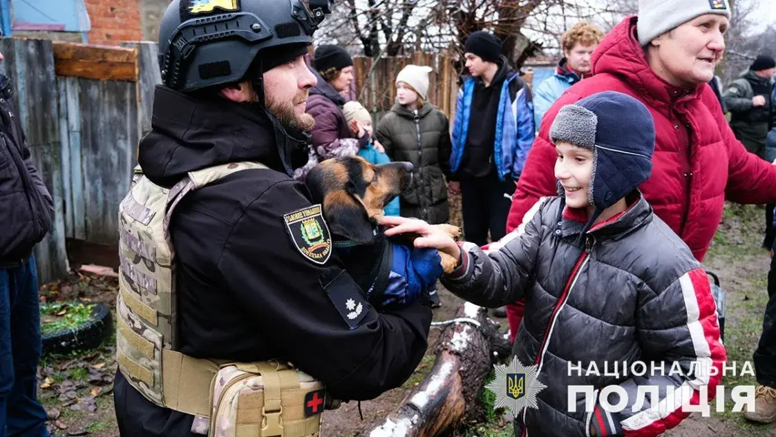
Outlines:
POLYGON ((135 49, 60 41, 53 47, 57 76, 133 82, 140 76, 135 49))

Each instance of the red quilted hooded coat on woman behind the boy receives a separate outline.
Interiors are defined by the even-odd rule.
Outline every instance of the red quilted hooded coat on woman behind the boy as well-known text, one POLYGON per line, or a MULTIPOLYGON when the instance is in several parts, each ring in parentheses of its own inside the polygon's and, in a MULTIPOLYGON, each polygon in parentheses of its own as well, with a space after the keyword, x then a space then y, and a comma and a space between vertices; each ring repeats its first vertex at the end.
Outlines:
MULTIPOLYGON (((542 196, 556 195, 557 153, 549 127, 563 105, 600 91, 619 91, 643 102, 655 120, 652 177, 639 187, 654 211, 702 261, 730 201, 776 202, 776 167, 748 153, 733 136, 714 91, 707 84, 681 89, 650 69, 636 38, 636 16, 625 18, 598 45, 594 75, 573 85, 549 108, 514 192, 507 231, 542 196)), ((623 140, 627 140, 624 132, 623 140)), ((510 330, 517 332, 522 302, 508 305, 510 330)))

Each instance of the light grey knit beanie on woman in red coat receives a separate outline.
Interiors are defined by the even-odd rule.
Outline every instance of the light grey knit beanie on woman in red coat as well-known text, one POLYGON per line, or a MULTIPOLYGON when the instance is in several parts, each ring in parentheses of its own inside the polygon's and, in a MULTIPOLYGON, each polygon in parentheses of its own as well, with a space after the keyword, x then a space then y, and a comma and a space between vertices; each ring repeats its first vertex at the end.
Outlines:
POLYGON ((705 14, 730 18, 728 0, 639 0, 639 44, 646 46, 663 33, 705 14))

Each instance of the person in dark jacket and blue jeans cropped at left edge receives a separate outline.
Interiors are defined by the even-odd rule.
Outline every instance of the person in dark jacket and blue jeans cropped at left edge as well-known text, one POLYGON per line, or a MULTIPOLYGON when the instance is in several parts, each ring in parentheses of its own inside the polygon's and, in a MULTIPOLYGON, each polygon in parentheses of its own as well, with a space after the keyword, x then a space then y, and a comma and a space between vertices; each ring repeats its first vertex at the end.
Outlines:
POLYGON ((0 437, 40 437, 49 432, 36 395, 41 345, 33 246, 51 229, 54 202, 12 100, 10 81, 0 74, 0 437))

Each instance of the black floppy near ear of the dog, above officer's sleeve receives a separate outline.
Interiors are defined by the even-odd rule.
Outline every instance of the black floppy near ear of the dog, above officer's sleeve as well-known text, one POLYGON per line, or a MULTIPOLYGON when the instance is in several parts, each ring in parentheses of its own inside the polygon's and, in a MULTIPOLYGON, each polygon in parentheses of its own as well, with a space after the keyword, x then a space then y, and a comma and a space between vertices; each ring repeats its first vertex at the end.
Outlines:
POLYGON ((374 241, 375 234, 366 209, 347 191, 328 194, 324 202, 324 212, 331 233, 360 244, 374 241))

